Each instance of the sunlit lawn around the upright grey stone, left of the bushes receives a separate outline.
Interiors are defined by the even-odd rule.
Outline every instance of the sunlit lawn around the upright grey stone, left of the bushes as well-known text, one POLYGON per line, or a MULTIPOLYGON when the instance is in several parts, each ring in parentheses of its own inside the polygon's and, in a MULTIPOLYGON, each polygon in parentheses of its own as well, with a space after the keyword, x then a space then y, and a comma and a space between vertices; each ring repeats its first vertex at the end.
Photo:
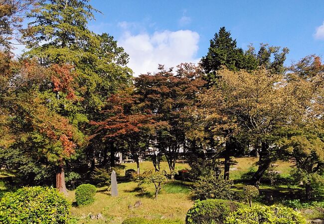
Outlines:
MULTIPOLYGON (((127 169, 136 169, 136 163, 126 163, 127 169)), ((154 169, 152 162, 143 162, 140 164, 141 172, 149 169, 154 169)), ((187 164, 176 164, 176 169, 188 168, 187 164)), ((161 163, 161 170, 168 170, 166 162, 161 163)), ((121 175, 124 175, 123 172, 121 175)), ((73 206, 71 213, 75 217, 82 217, 82 214, 88 215, 92 213, 97 215, 101 213, 106 223, 120 224, 128 217, 145 217, 148 219, 185 219, 185 214, 188 209, 193 205, 193 201, 189 196, 189 186, 181 182, 166 183, 158 197, 154 199, 155 188, 154 185, 147 185, 146 192, 135 191, 137 183, 127 182, 118 184, 118 197, 111 197, 107 187, 97 189, 95 202, 89 206, 73 206), (142 206, 139 208, 129 209, 128 206, 134 206, 135 202, 140 200, 142 206)), ((69 199, 74 202, 75 191, 69 191, 69 199)), ((75 204, 75 203, 74 203, 75 204)), ((99 220, 82 220, 79 219, 78 223, 93 223, 100 224, 105 221, 99 220)))

